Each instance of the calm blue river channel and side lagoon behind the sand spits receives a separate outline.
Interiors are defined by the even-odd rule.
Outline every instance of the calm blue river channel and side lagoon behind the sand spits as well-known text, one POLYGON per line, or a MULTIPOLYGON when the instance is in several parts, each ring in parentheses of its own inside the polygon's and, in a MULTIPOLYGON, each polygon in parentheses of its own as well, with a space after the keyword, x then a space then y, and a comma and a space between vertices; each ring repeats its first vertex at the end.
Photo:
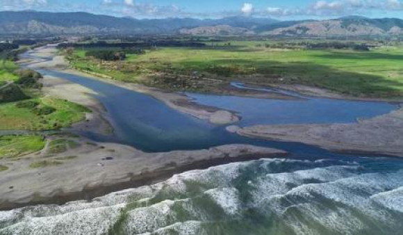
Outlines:
MULTIPOLYGON (((24 58, 47 61, 51 57, 26 53, 24 58)), ((55 70, 38 70, 44 75, 56 76, 90 88, 103 104, 110 117, 115 136, 83 131, 85 137, 101 142, 131 145, 145 152, 169 152, 174 150, 206 149, 228 144, 251 144, 264 147, 280 147, 295 152, 299 144, 253 140, 229 133, 226 126, 214 125, 186 115, 163 102, 140 92, 115 86, 87 76, 55 70)), ((233 86, 245 88, 240 83, 233 86)), ((260 89, 261 90, 261 89, 260 89)), ((269 90, 270 92, 270 90, 269 90)), ((284 91, 274 90, 273 92, 284 91)), ((188 93, 195 102, 235 111, 242 116, 236 123, 240 127, 254 124, 311 124, 349 123, 360 118, 370 118, 389 113, 398 108, 386 102, 356 102, 340 99, 301 97, 292 92, 285 95, 303 99, 256 99, 248 97, 201 95, 188 93)), ((315 149, 315 148, 314 148, 315 149)), ((298 151, 297 151, 298 152, 298 151)))

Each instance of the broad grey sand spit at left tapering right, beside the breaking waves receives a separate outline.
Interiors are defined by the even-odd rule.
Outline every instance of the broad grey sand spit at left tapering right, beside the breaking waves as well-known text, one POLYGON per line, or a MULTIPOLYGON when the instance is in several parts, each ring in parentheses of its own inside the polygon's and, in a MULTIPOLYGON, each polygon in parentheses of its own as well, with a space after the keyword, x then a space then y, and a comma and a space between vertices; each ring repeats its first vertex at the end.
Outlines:
POLYGON ((90 200, 152 184, 187 170, 286 156, 286 152, 278 149, 251 145, 149 154, 126 145, 94 143, 76 136, 49 136, 47 141, 41 152, 18 159, 0 159, 0 165, 8 167, 1 172, 0 210, 90 200), (54 153, 51 147, 54 140, 57 143, 63 140, 70 147, 54 153))

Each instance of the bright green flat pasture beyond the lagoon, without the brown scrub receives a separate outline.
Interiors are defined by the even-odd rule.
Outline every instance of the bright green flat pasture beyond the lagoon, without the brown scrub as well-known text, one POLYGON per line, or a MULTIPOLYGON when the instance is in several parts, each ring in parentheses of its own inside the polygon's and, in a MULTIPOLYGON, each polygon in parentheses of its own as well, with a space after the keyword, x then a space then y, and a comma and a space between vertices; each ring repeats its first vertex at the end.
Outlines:
POLYGON ((120 62, 85 58, 85 51, 76 50, 72 65, 120 81, 146 84, 155 74, 167 72, 262 85, 304 84, 364 97, 403 96, 403 47, 371 51, 282 50, 256 47, 257 44, 231 42, 231 47, 159 48, 141 56, 128 55, 127 60, 120 62), (254 74, 263 76, 246 76, 254 74))

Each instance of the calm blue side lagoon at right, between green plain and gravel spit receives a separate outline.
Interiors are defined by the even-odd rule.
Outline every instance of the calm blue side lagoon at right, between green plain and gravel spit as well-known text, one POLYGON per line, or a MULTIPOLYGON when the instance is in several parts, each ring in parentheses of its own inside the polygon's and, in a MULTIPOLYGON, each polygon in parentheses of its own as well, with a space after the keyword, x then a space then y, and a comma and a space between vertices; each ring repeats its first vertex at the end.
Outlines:
MULTIPOLYGON (((245 88, 241 83, 233 83, 241 89, 272 90, 265 88, 245 88)), ((240 126, 254 124, 325 124, 352 123, 383 115, 397 108, 386 102, 360 102, 343 99, 304 97, 294 92, 274 90, 284 95, 297 97, 296 100, 256 99, 235 96, 201 95, 187 93, 195 102, 237 111, 242 116, 240 126)))

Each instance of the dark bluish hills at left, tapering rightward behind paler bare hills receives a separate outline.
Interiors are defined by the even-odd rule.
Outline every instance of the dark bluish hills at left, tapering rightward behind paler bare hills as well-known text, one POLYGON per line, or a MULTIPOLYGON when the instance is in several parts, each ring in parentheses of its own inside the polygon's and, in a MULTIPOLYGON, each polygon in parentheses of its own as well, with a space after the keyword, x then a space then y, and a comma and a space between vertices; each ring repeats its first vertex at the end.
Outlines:
POLYGON ((35 11, 0 12, 0 35, 60 35, 60 34, 161 34, 177 33, 180 29, 227 25, 253 29, 277 22, 274 19, 227 17, 223 19, 133 19, 90 13, 45 13, 35 11))

